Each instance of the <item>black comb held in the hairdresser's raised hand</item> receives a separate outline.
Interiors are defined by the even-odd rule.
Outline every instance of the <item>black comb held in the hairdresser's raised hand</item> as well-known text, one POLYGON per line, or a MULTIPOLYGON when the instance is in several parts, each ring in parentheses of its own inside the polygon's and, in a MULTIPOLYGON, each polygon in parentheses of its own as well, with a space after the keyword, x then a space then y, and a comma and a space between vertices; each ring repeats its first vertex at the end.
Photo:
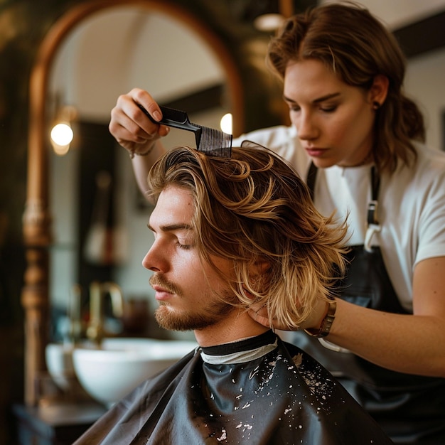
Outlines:
POLYGON ((149 112, 139 104, 139 108, 156 124, 167 125, 178 129, 187 130, 195 134, 196 149, 210 156, 219 158, 230 158, 232 155, 232 134, 222 132, 214 128, 203 127, 203 125, 193 124, 188 119, 186 112, 179 109, 159 107, 162 112, 162 119, 155 121, 149 112))

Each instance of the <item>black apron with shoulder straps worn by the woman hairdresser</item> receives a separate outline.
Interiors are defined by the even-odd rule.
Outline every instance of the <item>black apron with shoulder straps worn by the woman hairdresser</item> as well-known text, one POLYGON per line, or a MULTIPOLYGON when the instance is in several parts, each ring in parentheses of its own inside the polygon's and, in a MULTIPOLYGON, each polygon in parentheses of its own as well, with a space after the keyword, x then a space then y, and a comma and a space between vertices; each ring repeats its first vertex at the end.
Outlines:
MULTIPOLYGON (((312 164, 307 178, 312 196, 315 179, 312 164)), ((372 169, 370 225, 378 225, 375 209, 379 187, 372 169)), ((348 272, 339 283, 339 298, 379 311, 407 313, 397 299, 379 247, 366 250, 363 245, 352 246, 348 259, 348 272)), ((324 339, 304 332, 294 335, 293 343, 331 371, 396 444, 445 444, 445 379, 387 370, 324 339)))

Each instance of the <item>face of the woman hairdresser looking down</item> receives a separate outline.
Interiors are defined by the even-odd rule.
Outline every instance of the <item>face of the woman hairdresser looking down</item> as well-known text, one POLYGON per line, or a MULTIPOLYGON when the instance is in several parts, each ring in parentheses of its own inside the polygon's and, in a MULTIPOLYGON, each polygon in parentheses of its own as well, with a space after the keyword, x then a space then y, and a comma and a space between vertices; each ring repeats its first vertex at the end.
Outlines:
POLYGON ((313 163, 358 166, 370 160, 375 120, 371 93, 345 84, 319 60, 287 65, 284 100, 313 163))

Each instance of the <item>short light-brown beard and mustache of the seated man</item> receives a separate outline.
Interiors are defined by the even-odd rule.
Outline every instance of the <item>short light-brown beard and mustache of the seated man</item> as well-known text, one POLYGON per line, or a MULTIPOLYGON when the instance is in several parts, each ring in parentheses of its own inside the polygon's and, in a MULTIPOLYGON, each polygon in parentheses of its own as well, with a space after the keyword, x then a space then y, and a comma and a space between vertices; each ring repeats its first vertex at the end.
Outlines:
MULTIPOLYGON (((176 294, 179 298, 183 298, 181 289, 178 286, 166 282, 159 275, 151 277, 150 283, 159 284, 176 294)), ((160 306, 156 309, 154 316, 159 326, 170 331, 195 331, 223 321, 236 309, 230 302, 233 304, 240 302, 230 291, 227 291, 227 295, 223 295, 222 299, 219 299, 218 296, 203 295, 203 306, 188 309, 188 311, 172 310, 168 302, 160 301, 160 306), (209 303, 210 299, 215 301, 209 303)))

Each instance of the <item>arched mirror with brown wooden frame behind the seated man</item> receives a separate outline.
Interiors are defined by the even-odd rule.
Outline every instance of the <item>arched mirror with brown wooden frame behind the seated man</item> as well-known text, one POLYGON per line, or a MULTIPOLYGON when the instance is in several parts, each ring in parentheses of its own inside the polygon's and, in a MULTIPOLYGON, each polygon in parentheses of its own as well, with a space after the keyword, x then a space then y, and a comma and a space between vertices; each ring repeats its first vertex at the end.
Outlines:
MULTIPOLYGON (((69 289, 79 276, 90 279, 82 272, 85 257, 90 259, 91 277, 105 268, 107 279, 118 282, 124 294, 149 291, 141 267, 150 243, 144 230, 149 209, 138 198, 128 154, 113 145, 109 135, 106 141, 98 136, 107 133, 117 96, 136 85, 161 104, 191 111, 191 120, 208 127, 219 125, 220 117, 231 112, 233 133, 242 132, 242 85, 230 53, 203 23, 178 6, 149 0, 90 1, 50 28, 30 84, 22 294, 27 404, 36 403, 36 377, 45 369, 50 304, 67 306, 69 289), (67 105, 75 108, 75 139, 68 154, 58 156, 51 149, 50 124, 67 105), (112 213, 122 245, 120 256, 95 264, 94 255, 85 254, 85 245, 98 197, 110 178, 113 198, 107 212, 112 213)), ((175 132, 168 137, 172 146, 191 140, 175 132)))

